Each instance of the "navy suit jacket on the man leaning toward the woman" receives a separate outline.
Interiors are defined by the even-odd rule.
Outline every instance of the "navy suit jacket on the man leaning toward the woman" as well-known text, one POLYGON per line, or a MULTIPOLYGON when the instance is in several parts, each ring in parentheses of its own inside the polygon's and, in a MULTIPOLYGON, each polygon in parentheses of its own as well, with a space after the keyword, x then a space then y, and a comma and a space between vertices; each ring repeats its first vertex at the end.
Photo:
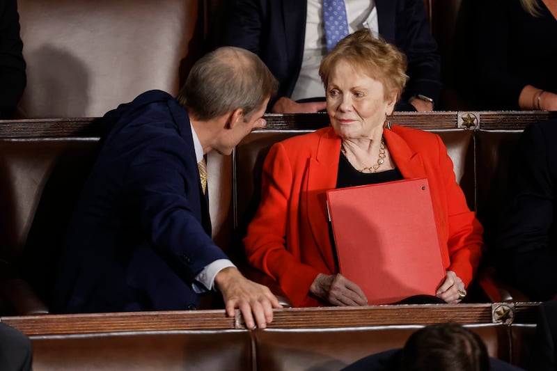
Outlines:
POLYGON ((54 310, 196 306, 194 277, 226 255, 210 237, 189 117, 159 90, 109 111, 68 229, 54 310))

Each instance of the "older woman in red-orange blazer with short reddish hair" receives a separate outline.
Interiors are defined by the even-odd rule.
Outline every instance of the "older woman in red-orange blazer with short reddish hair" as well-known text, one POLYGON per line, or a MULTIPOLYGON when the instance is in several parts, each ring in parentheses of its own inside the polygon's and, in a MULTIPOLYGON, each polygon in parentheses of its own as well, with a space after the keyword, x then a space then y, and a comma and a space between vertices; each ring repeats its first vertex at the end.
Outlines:
MULTIPOLYGON (((331 127, 276 143, 263 166, 261 203, 244 247, 249 263, 274 278, 294 306, 366 305, 338 273, 326 191, 427 177, 444 245, 446 278, 437 297, 458 303, 478 267, 483 228, 455 180, 439 136, 390 125, 407 75, 405 57, 361 30, 322 61, 331 127)), ((393 197, 396 197, 393 194, 393 197)))

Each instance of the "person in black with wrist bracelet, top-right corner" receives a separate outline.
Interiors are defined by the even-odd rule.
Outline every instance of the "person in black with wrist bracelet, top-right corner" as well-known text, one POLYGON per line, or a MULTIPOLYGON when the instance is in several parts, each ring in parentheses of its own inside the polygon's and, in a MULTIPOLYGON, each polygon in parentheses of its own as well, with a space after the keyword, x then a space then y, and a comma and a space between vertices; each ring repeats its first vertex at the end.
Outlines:
POLYGON ((557 111, 557 2, 482 1, 478 17, 480 109, 557 111))

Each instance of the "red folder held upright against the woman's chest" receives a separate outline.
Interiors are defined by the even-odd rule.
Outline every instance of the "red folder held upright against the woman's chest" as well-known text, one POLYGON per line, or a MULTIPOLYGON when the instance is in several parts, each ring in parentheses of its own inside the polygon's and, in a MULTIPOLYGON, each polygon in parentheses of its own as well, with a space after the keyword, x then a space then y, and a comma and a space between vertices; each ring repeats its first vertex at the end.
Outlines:
POLYGON ((370 304, 435 295, 445 277, 427 179, 327 191, 340 273, 370 304))

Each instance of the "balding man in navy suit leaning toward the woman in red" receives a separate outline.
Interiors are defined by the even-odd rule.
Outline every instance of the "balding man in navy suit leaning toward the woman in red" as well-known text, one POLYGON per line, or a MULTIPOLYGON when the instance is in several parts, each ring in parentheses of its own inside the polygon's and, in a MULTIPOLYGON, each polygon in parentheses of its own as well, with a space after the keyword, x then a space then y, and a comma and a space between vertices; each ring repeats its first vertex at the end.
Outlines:
POLYGON ((246 326, 255 317, 265 327, 280 305, 212 242, 198 163, 211 150, 229 155, 264 127, 274 93, 256 54, 223 47, 194 65, 178 97, 152 90, 106 113, 65 239, 55 310, 194 309, 198 294, 219 290, 228 315, 240 308, 246 326))

